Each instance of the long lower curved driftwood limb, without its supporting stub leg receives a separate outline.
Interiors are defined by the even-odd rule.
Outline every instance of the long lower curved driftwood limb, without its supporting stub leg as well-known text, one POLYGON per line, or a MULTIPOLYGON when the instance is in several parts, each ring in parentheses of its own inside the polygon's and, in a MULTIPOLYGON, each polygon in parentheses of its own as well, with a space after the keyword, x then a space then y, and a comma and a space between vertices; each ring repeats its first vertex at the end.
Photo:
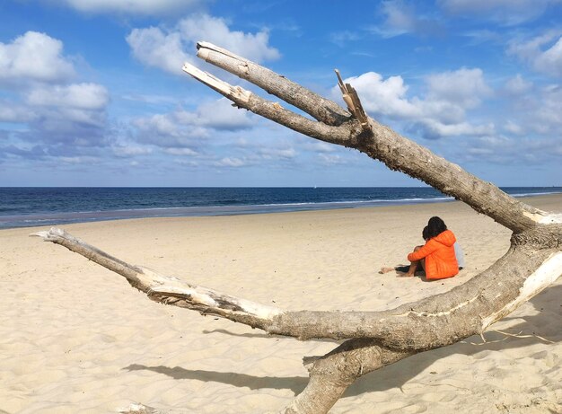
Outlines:
POLYGON ((443 347, 480 334, 562 274, 562 252, 549 249, 529 254, 523 247, 512 249, 464 285, 393 310, 284 311, 129 265, 60 229, 35 235, 119 273, 162 304, 221 316, 297 339, 369 338, 377 339, 383 347, 402 350, 443 347))

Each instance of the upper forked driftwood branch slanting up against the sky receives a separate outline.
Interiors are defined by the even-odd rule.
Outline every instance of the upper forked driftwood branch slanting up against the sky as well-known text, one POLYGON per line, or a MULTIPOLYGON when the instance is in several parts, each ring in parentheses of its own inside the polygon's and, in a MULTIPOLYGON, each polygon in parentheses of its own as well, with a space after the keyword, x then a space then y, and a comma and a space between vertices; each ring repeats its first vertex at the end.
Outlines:
MULTIPOLYGON (((300 100, 295 100, 292 94, 294 82, 289 81, 285 76, 277 75, 269 69, 247 59, 236 57, 231 52, 207 42, 198 43, 198 56, 204 57, 207 62, 216 66, 224 67, 252 84, 264 87, 266 91, 276 94, 288 103, 295 104, 319 121, 315 122, 294 114, 292 111, 282 109, 277 102, 257 99, 258 97, 253 93, 250 95, 250 100, 244 102, 240 101, 235 93, 228 92, 228 88, 219 91, 241 108, 251 110, 309 137, 356 148, 364 154, 382 161, 391 170, 406 172, 411 177, 425 181, 435 189, 464 201, 479 213, 492 217, 496 222, 505 225, 515 233, 531 229, 535 225, 556 221, 549 214, 510 197, 495 185, 479 180, 464 171, 459 165, 436 156, 425 147, 401 137, 371 118, 367 117, 368 128, 364 125, 364 119, 357 114, 354 118, 347 119, 341 124, 338 124, 340 118, 338 118, 338 122, 333 119, 325 119, 319 114, 318 108, 328 108, 328 112, 330 112, 340 107, 335 102, 327 103, 328 100, 313 92, 305 92, 306 90, 302 86, 299 91, 306 95, 307 103, 306 105, 296 104, 295 101, 300 102, 300 100), (230 63, 224 64, 224 61, 230 63), (269 84, 275 85, 275 87, 269 88, 269 84), (338 127, 331 125, 338 125, 338 127)), ((197 68, 195 71, 194 67, 185 65, 183 70, 213 88, 213 84, 209 83, 209 76, 213 78, 214 76, 202 75, 205 72, 197 68)))

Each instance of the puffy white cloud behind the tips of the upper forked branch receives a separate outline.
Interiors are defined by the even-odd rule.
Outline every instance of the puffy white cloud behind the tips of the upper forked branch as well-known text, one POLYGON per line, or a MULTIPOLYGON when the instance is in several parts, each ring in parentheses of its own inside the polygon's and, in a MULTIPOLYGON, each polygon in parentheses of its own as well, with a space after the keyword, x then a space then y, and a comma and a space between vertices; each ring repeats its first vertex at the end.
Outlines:
POLYGON ((134 29, 127 36, 127 43, 140 62, 173 74, 182 73, 184 61, 193 63, 198 40, 210 41, 256 62, 279 57, 277 48, 268 45, 268 31, 231 31, 224 19, 208 14, 191 15, 171 29, 134 29), (185 52, 186 49, 189 53, 185 52))

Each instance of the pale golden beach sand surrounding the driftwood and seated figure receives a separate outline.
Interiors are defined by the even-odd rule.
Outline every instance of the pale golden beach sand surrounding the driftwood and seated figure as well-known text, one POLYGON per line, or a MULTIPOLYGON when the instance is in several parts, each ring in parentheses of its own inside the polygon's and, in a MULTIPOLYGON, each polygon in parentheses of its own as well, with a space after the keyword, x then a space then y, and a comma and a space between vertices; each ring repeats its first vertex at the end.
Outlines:
MULTIPOLYGON (((562 196, 527 198, 562 211, 562 196)), ((510 232, 449 202, 252 216, 63 225, 126 260, 262 304, 382 310, 448 291, 505 253, 510 232), (405 263, 430 216, 467 267, 427 283, 378 274, 405 263)), ((109 270, 0 231, 0 412, 108 413, 140 402, 186 413, 277 412, 308 380, 298 341, 155 304, 109 270)), ((562 412, 562 278, 488 331, 364 375, 333 413, 562 412), (512 336, 513 335, 513 336, 512 336)))

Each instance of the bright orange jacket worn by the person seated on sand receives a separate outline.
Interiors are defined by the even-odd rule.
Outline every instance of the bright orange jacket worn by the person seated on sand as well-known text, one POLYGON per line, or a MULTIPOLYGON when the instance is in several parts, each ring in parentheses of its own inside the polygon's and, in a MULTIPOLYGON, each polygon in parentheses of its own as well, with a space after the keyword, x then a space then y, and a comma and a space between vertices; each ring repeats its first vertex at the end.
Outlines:
POLYGON ((459 273, 459 265, 454 255, 456 238, 451 230, 445 230, 429 239, 419 249, 408 254, 409 261, 417 261, 426 258, 426 277, 428 279, 444 279, 453 277, 459 273))

